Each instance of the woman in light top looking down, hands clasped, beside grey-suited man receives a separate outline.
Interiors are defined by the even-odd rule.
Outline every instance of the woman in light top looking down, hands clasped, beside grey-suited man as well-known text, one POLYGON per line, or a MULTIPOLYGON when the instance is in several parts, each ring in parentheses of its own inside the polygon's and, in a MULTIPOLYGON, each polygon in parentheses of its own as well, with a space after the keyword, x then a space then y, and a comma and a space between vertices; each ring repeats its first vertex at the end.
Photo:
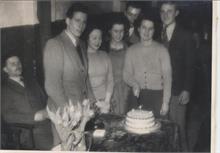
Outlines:
POLYGON ((112 63, 109 56, 99 50, 101 43, 101 29, 95 26, 90 27, 87 30, 89 78, 97 100, 96 105, 101 113, 108 113, 113 92, 112 63))

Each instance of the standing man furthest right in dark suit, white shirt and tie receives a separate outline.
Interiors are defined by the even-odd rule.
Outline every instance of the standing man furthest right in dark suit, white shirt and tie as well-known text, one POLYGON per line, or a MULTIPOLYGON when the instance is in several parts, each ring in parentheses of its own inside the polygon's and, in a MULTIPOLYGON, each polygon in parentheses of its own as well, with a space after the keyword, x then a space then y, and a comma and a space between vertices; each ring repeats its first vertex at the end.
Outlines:
POLYGON ((180 126, 182 149, 187 151, 186 104, 190 101, 193 85, 194 44, 191 34, 184 30, 176 17, 179 10, 174 2, 163 2, 161 41, 168 48, 172 65, 172 97, 169 118, 180 126))

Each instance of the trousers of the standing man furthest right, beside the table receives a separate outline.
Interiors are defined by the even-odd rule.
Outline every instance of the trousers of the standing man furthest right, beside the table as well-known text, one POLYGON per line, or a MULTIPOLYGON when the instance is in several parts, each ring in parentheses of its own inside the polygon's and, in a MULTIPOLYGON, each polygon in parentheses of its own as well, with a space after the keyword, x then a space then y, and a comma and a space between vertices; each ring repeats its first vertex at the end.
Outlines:
POLYGON ((180 128, 181 148, 188 150, 186 138, 186 105, 179 104, 179 96, 172 96, 170 101, 169 119, 175 122, 180 128))

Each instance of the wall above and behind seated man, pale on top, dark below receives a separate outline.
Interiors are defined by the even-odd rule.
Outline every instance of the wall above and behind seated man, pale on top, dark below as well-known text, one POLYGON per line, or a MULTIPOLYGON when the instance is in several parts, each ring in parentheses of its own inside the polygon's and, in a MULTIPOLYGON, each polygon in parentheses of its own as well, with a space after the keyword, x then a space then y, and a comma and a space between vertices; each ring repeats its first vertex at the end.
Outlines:
POLYGON ((36 77, 43 84, 42 50, 50 38, 50 2, 3 1, 0 11, 4 12, 0 18, 1 59, 17 53, 25 77, 36 77))

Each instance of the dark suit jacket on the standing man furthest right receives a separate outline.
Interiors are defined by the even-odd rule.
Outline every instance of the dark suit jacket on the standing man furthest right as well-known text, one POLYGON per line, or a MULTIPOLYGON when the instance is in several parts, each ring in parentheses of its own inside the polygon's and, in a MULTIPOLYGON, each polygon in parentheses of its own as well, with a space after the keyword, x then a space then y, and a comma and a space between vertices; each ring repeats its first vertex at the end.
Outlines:
POLYGON ((179 95, 183 90, 191 92, 195 62, 195 44, 192 35, 176 24, 168 50, 172 66, 172 95, 179 95))

